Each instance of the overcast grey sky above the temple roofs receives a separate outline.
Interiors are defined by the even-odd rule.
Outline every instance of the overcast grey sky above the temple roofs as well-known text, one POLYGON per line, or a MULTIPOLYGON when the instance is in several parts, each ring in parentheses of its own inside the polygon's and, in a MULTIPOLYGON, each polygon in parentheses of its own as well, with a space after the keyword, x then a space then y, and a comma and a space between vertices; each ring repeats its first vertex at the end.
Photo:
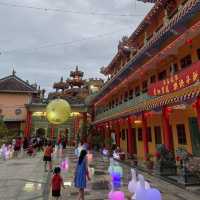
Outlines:
POLYGON ((0 0, 0 78, 14 68, 47 91, 76 65, 85 78, 105 78, 100 68, 151 7, 136 0, 0 0))

